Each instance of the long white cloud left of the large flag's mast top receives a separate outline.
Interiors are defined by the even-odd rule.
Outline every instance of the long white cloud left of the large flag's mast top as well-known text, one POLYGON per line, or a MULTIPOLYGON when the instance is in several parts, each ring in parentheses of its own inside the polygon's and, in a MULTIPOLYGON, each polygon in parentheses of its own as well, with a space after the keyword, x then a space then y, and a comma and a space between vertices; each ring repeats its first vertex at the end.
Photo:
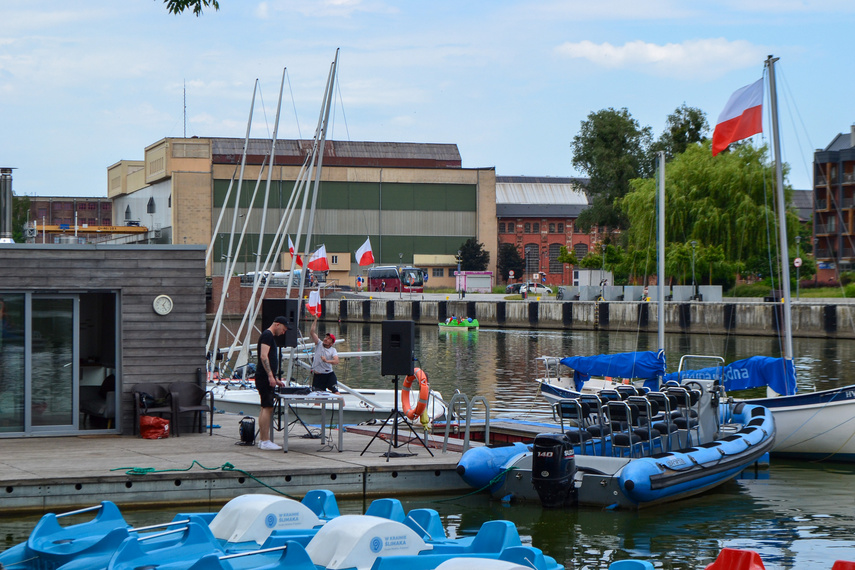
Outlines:
POLYGON ((677 78, 714 79, 734 69, 757 66, 768 49, 745 40, 725 38, 686 40, 682 43, 654 44, 640 40, 622 46, 585 40, 567 42, 555 48, 559 55, 587 60, 610 69, 633 69, 653 75, 677 78))

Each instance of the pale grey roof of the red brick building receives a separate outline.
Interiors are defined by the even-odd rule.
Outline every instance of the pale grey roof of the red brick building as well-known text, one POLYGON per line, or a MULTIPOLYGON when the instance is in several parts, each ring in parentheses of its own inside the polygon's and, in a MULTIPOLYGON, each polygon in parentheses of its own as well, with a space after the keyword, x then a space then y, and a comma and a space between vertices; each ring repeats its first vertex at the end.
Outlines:
POLYGON ((587 178, 497 176, 496 205, 584 206, 587 178))

